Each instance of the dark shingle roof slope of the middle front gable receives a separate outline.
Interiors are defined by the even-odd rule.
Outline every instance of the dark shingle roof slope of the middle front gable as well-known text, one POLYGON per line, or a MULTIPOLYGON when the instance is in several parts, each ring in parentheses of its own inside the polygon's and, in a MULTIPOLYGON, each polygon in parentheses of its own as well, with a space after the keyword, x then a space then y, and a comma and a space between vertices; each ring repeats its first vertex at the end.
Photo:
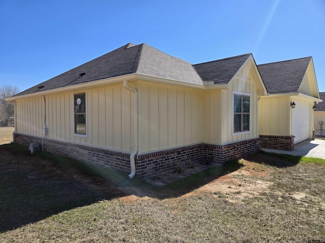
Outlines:
POLYGON ((193 65, 193 67, 206 82, 213 82, 213 84, 220 85, 228 84, 250 55, 249 53, 236 57, 204 62, 193 65))

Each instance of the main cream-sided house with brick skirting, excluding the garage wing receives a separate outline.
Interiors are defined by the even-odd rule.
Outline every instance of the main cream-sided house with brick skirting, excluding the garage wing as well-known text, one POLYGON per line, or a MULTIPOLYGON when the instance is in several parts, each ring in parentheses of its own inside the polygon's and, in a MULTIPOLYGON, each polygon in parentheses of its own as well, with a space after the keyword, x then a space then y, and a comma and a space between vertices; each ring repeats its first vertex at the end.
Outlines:
POLYGON ((16 143, 146 178, 259 151, 265 95, 252 54, 192 65, 127 44, 7 100, 16 143))

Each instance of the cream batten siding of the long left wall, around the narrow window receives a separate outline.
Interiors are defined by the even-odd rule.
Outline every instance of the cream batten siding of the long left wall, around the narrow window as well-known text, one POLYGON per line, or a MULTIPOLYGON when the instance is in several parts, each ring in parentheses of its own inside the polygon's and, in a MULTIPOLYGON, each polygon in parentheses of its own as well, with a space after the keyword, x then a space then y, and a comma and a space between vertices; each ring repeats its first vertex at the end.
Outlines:
MULTIPOLYGON (((133 99, 122 85, 46 95, 48 138, 94 147, 131 152, 133 99), (86 93, 87 135, 74 135, 74 94, 86 93)), ((17 133, 42 137, 45 105, 43 96, 17 99, 17 133), (26 122, 30 121, 30 122, 26 122)))

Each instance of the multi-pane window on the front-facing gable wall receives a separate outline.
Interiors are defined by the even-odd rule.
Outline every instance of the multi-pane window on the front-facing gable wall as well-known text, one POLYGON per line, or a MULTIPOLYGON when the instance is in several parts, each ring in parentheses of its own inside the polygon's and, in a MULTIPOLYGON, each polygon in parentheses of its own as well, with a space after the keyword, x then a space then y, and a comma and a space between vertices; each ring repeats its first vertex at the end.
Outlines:
POLYGON ((250 96, 234 94, 234 133, 249 131, 250 96))

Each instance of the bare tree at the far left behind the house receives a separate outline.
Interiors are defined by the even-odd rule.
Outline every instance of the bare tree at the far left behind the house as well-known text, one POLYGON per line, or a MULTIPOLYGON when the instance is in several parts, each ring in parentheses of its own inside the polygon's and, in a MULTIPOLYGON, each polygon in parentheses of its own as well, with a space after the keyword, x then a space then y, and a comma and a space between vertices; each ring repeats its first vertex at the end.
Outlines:
POLYGON ((5 99, 19 92, 16 86, 3 85, 0 87, 0 120, 2 124, 8 125, 9 118, 15 115, 14 105, 9 104, 5 99))

